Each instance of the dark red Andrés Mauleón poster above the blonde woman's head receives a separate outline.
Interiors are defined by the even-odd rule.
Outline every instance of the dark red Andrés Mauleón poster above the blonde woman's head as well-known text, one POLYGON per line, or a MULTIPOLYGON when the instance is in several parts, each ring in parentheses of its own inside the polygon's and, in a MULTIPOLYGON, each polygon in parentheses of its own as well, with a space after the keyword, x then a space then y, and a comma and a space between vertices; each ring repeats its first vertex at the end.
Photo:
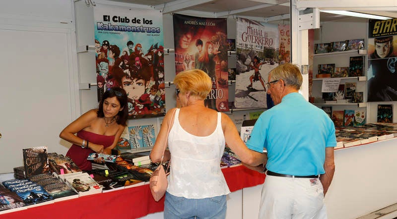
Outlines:
POLYGON ((205 71, 212 80, 205 106, 229 110, 226 18, 174 14, 173 24, 176 74, 190 69, 205 71))

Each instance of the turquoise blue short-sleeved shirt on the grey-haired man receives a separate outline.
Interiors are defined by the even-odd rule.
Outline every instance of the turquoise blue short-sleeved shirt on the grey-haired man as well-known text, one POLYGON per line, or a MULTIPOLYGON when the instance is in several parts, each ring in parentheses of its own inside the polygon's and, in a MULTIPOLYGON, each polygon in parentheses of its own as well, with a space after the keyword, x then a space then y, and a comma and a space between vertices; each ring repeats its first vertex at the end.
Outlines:
POLYGON ((290 93, 261 114, 247 146, 261 153, 267 150, 266 168, 270 171, 324 174, 325 148, 336 146, 335 127, 324 110, 301 94, 290 93))

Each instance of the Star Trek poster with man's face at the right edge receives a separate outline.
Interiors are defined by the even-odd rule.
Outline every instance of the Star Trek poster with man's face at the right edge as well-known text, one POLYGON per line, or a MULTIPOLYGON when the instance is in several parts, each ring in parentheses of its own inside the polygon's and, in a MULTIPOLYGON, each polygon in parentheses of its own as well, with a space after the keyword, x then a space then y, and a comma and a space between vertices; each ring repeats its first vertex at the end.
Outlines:
POLYGON ((368 102, 397 101, 396 22, 368 21, 368 102))

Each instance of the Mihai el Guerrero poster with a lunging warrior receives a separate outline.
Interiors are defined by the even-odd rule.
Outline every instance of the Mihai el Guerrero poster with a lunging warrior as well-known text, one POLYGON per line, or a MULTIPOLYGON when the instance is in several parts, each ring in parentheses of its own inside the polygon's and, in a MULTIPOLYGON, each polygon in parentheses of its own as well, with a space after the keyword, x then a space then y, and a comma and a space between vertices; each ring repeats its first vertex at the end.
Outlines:
POLYGON ((265 83, 278 66, 278 26, 239 17, 236 38, 237 109, 267 108, 265 83))

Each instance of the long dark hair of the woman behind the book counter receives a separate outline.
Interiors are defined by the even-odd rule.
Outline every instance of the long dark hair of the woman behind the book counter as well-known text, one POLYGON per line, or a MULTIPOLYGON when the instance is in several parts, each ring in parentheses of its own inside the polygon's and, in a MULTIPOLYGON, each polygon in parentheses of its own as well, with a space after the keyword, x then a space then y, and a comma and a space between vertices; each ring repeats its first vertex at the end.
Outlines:
POLYGON ((127 126, 127 118, 128 118, 128 100, 127 100, 127 93, 124 89, 119 87, 113 87, 108 89, 102 96, 101 101, 99 102, 99 109, 97 111, 98 117, 102 118, 105 116, 103 113, 103 101, 107 98, 116 97, 117 100, 120 102, 120 107, 123 110, 117 113, 118 117, 116 119, 117 124, 127 126))

